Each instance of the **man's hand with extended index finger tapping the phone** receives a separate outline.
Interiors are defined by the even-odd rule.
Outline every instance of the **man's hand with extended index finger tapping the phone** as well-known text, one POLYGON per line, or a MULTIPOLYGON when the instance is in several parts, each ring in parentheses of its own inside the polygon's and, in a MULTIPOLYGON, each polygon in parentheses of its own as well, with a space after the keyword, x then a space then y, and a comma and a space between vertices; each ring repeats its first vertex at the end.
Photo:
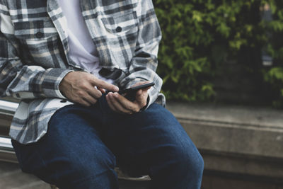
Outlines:
POLYGON ((59 90, 69 100, 81 105, 90 106, 108 91, 119 91, 117 86, 97 79, 96 76, 82 71, 73 71, 64 76, 59 84, 59 90))

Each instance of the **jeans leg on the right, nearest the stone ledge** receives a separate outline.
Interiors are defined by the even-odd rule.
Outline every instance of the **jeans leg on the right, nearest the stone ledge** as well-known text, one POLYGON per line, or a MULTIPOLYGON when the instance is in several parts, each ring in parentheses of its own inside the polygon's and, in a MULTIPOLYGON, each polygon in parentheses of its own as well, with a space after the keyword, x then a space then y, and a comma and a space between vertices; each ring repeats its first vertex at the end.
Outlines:
POLYGON ((156 103, 120 116, 108 129, 107 144, 132 175, 149 175, 153 188, 200 188, 204 162, 178 120, 156 103))

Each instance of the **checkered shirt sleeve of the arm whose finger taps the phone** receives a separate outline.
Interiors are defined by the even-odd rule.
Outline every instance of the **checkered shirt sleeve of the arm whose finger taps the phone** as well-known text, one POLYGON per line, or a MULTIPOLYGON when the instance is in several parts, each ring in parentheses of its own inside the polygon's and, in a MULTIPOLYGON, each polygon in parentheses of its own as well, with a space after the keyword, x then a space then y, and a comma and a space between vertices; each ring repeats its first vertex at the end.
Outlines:
MULTIPOLYGON (((0 96, 20 99, 64 98, 59 83, 70 70, 24 65, 5 1, 0 1, 0 96)), ((46 48, 48 50, 48 48, 46 48)))

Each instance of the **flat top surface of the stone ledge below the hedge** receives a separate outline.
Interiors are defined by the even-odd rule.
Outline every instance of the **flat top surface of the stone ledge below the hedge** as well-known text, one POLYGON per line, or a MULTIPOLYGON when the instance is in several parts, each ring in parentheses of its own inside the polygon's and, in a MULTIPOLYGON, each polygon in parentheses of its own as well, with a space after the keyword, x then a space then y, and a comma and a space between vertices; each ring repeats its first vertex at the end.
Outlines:
POLYGON ((178 118, 283 129, 283 110, 273 108, 174 102, 166 108, 178 118))

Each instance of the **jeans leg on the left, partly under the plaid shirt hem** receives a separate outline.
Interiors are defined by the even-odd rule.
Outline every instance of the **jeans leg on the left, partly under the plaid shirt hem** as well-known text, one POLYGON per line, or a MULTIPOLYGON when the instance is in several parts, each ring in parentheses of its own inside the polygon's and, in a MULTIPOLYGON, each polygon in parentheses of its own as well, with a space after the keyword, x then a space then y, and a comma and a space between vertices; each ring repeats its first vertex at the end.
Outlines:
POLYGON ((99 105, 61 108, 40 141, 12 142, 22 170, 63 189, 118 188, 115 155, 101 140, 103 116, 99 105))

